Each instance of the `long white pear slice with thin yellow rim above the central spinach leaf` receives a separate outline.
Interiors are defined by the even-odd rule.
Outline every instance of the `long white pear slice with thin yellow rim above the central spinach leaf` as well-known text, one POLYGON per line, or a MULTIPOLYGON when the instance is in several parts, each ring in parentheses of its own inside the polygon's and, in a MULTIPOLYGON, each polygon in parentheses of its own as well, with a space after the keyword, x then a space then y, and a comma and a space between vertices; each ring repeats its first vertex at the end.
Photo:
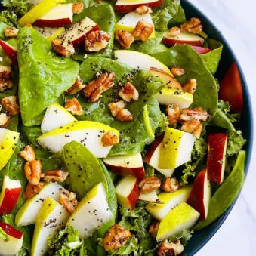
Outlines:
POLYGON ((157 69, 162 69, 171 75, 171 71, 168 69, 168 66, 165 66, 159 60, 156 60, 156 58, 143 54, 139 51, 117 50, 114 51, 114 56, 117 61, 125 63, 134 69, 139 68, 149 72, 151 67, 155 67, 157 69))

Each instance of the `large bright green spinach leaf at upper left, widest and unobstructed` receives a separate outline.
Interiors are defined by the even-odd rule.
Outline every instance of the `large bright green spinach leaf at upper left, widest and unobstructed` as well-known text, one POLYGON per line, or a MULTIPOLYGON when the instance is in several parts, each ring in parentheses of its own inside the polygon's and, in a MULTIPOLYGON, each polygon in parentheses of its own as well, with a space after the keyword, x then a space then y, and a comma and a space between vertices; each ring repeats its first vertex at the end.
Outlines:
POLYGON ((23 27, 18 35, 19 98, 23 123, 39 125, 43 111, 70 88, 79 64, 51 51, 51 43, 35 29, 23 27))

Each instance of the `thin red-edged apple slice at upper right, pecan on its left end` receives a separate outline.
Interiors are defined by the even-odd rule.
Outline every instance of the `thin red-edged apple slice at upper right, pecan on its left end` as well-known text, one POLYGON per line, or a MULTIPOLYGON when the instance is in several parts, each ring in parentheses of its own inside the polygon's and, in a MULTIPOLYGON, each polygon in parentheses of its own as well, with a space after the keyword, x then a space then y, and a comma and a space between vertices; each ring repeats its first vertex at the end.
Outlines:
POLYGON ((168 31, 164 32, 162 42, 166 45, 194 45, 202 46, 205 40, 199 36, 192 33, 180 32, 177 36, 168 35, 168 31))

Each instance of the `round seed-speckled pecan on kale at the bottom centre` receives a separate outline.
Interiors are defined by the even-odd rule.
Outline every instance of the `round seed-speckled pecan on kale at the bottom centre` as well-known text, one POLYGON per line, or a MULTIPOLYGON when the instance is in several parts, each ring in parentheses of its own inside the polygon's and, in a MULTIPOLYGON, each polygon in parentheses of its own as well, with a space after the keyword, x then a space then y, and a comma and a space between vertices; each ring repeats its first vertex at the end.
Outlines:
POLYGON ((121 225, 114 224, 109 228, 106 236, 103 239, 103 245, 106 251, 113 251, 121 248, 122 245, 130 238, 131 233, 129 230, 125 230, 121 225))

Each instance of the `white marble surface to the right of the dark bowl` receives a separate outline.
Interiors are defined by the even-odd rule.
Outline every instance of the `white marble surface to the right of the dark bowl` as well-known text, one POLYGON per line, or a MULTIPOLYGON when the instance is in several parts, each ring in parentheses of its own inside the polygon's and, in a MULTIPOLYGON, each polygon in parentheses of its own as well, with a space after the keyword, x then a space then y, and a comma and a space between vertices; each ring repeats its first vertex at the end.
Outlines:
MULTIPOLYGON (((238 57, 251 93, 256 113, 256 15, 255 0, 190 0, 230 42, 238 57)), ((254 117, 254 126, 256 116, 254 117)), ((242 194, 233 211, 216 235, 196 256, 255 256, 256 255, 256 151, 242 194)))

